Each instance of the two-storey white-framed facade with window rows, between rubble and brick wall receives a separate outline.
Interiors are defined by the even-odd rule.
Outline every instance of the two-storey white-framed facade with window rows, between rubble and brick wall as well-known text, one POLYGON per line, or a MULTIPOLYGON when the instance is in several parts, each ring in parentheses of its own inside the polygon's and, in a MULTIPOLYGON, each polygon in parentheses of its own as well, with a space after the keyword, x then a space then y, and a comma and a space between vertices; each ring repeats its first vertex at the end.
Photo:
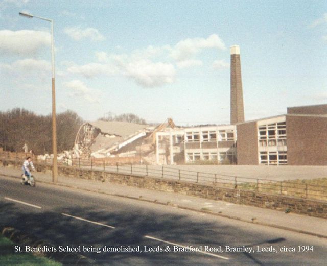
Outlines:
POLYGON ((192 127, 156 133, 157 164, 237 163, 235 125, 192 127))

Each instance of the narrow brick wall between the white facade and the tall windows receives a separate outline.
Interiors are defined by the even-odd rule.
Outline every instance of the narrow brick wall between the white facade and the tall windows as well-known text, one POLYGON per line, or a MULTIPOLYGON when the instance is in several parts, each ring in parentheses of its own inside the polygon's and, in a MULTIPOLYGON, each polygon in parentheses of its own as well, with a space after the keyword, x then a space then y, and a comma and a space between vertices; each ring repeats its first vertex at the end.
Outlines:
POLYGON ((256 122, 237 125, 238 164, 259 164, 256 122))

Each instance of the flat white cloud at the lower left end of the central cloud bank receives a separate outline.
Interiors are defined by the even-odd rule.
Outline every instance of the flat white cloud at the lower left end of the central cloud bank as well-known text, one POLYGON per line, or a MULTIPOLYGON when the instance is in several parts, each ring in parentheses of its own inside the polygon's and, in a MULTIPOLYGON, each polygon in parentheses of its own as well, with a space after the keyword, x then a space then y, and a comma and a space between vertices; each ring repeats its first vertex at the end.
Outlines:
POLYGON ((98 75, 114 75, 116 67, 110 64, 90 63, 81 66, 70 66, 67 71, 72 74, 80 74, 85 78, 94 78, 98 75))

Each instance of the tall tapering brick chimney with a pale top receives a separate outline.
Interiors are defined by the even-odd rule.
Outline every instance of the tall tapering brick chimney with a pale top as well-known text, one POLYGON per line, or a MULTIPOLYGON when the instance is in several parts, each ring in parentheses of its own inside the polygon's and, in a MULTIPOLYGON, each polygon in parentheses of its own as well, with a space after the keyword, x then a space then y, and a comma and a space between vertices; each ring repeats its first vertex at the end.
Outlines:
POLYGON ((240 46, 230 46, 230 124, 244 122, 240 46))

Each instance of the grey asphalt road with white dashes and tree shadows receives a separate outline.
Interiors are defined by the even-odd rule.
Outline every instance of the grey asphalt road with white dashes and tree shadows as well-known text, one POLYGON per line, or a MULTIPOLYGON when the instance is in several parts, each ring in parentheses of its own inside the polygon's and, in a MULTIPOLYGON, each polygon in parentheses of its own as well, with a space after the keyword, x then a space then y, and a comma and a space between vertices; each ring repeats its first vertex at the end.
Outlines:
POLYGON ((327 241, 315 236, 77 189, 24 186, 5 177, 0 177, 0 187, 0 223, 54 247, 89 248, 92 252, 81 254, 100 265, 316 266, 325 265, 327 258, 327 241), (173 252, 191 245, 198 250, 173 252), (142 252, 103 252, 105 246, 142 252), (298 246, 313 251, 298 252, 298 246), (238 252, 228 252, 228 247, 238 252), (296 251, 286 251, 290 247, 296 251))

